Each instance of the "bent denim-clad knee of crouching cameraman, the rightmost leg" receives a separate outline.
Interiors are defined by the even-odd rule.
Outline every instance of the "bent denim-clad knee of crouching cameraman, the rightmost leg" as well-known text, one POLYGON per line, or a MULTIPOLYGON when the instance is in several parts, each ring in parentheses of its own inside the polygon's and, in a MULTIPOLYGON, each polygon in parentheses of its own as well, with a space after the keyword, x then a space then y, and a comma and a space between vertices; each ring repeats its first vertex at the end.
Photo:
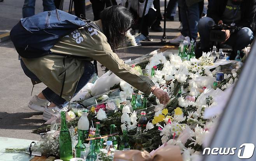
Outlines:
POLYGON ((237 51, 244 49, 246 46, 251 44, 254 39, 254 34, 250 28, 244 27, 239 30, 237 33, 231 34, 230 38, 225 42, 232 46, 233 51, 230 55, 230 59, 235 59, 237 55, 237 51))

